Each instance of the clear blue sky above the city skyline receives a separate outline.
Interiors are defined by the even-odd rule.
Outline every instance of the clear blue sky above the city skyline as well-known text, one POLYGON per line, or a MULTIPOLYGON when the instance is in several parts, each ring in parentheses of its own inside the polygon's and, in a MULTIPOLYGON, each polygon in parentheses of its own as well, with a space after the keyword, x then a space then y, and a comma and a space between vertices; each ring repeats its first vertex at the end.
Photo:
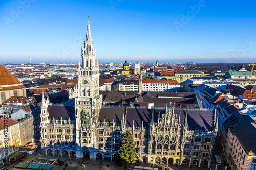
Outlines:
POLYGON ((3 63, 77 63, 87 16, 100 63, 252 62, 255 1, 0 1, 3 63), (193 10, 194 9, 194 10, 193 10))

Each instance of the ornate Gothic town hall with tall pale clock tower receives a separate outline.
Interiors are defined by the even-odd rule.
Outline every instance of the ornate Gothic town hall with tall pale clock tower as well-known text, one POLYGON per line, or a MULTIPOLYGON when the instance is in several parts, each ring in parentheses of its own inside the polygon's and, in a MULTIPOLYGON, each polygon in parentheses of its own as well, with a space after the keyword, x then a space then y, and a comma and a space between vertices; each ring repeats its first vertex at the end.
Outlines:
POLYGON ((42 95, 40 141, 46 155, 113 160, 122 134, 130 131, 139 161, 209 168, 218 121, 197 93, 143 92, 142 86, 100 91, 89 17, 81 56, 69 101, 52 104, 42 95))

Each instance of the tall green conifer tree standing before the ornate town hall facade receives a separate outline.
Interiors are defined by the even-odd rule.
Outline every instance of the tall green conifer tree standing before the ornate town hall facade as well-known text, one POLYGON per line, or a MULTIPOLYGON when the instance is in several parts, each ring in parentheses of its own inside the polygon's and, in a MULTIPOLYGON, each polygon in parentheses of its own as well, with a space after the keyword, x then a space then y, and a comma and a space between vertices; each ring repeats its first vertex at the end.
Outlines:
POLYGON ((133 136, 129 131, 126 131, 122 136, 122 141, 118 150, 120 166, 125 168, 136 161, 135 145, 133 143, 133 136))

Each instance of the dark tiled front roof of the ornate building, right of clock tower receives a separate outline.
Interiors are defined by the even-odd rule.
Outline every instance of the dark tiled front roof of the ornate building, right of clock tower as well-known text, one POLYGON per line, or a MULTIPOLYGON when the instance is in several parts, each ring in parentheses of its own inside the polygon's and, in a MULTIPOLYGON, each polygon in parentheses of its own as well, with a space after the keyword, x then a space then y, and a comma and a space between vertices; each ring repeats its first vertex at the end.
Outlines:
MULTIPOLYGON (((99 114, 99 121, 104 122, 104 119, 109 122, 113 122, 113 119, 117 122, 121 122, 123 114, 125 113, 124 107, 102 107, 99 114)), ((154 110, 154 122, 158 120, 158 114, 160 117, 165 113, 165 110, 154 110)), ((185 121, 186 110, 175 110, 174 114, 179 117, 180 123, 185 121)), ((141 127, 143 121, 143 127, 148 128, 151 122, 152 110, 146 108, 128 108, 126 115, 126 126, 132 127, 134 121, 134 127, 141 127)), ((202 110, 188 110, 188 130, 208 130, 213 129, 214 113, 212 111, 202 110)))

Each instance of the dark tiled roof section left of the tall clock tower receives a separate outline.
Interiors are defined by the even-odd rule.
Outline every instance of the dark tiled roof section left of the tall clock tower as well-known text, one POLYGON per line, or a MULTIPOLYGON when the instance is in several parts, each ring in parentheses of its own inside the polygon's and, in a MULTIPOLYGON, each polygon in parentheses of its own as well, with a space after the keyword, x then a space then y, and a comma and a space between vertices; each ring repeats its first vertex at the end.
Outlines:
POLYGON ((74 106, 48 106, 48 112, 49 119, 54 117, 55 120, 60 120, 62 117, 63 120, 76 120, 74 106))

